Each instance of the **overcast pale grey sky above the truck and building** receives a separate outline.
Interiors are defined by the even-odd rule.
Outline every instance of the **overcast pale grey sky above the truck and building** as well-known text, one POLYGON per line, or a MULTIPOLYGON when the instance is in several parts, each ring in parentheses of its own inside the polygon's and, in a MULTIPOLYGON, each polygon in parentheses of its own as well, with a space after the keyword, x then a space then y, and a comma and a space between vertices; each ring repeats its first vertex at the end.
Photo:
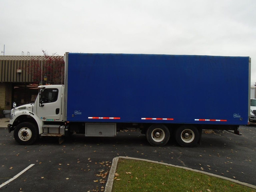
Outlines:
POLYGON ((256 82, 256 0, 0 0, 0 26, 0 55, 250 56, 256 82))

